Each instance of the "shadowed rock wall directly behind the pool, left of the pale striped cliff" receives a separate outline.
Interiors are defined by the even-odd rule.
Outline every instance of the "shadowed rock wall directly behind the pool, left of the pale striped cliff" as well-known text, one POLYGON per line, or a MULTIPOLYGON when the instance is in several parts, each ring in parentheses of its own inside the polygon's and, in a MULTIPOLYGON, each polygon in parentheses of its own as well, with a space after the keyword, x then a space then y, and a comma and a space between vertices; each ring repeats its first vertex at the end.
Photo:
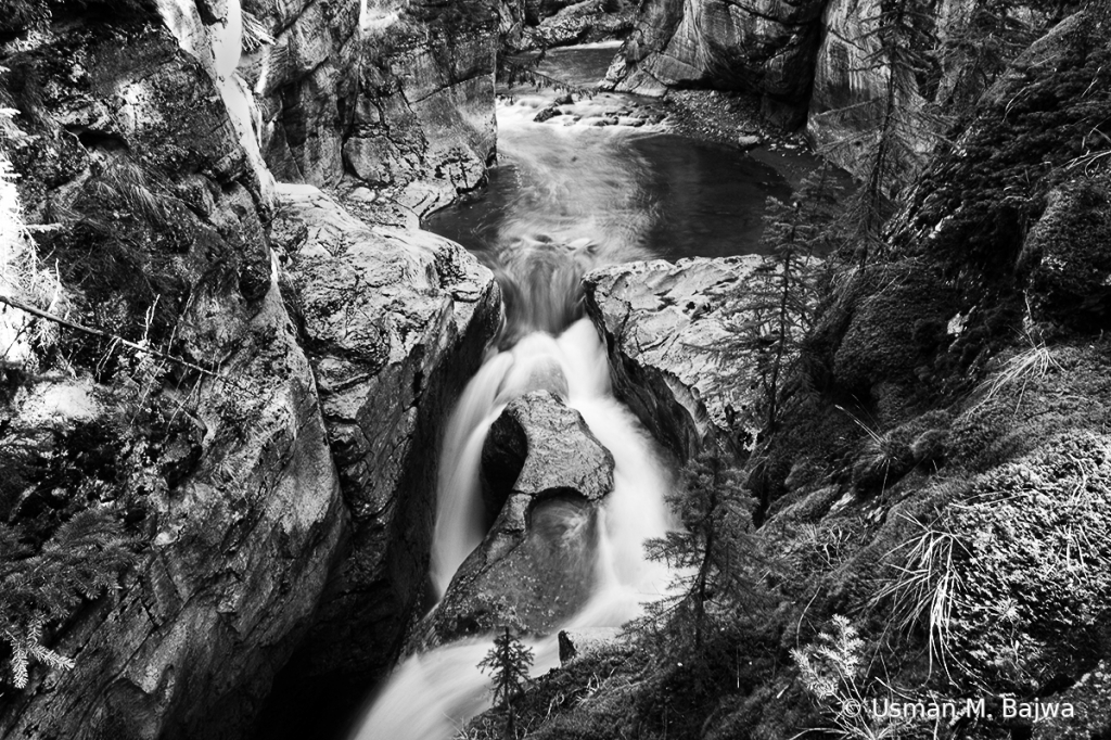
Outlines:
POLYGON ((798 126, 805 117, 824 4, 649 0, 612 70, 618 89, 647 94, 665 87, 748 89, 763 97, 765 114, 798 126))

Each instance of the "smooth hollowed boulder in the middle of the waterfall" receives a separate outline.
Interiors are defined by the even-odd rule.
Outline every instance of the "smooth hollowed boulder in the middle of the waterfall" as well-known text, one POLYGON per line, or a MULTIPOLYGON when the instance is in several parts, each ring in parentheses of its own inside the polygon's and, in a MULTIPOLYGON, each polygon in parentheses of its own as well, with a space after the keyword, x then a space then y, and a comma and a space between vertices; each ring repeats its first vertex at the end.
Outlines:
POLYGON ((424 646, 503 624, 550 632, 594 583, 598 507, 613 488, 613 458, 578 411, 549 391, 512 401, 490 428, 482 478, 497 519, 416 630, 424 646))

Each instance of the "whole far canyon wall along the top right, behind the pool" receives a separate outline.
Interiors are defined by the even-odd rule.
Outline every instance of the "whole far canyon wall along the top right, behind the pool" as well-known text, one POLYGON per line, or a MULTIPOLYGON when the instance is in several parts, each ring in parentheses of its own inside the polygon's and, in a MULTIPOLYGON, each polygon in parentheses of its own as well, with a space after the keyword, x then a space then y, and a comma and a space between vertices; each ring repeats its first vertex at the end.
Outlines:
POLYGON ((970 108, 1021 49, 1075 3, 930 0, 903 6, 900 53, 882 48, 900 3, 881 0, 648 0, 608 76, 618 90, 743 90, 763 117, 805 127, 813 144, 860 172, 874 150, 888 91, 905 129, 901 167, 932 151, 950 117, 970 108), (913 69, 911 69, 913 68, 913 69))

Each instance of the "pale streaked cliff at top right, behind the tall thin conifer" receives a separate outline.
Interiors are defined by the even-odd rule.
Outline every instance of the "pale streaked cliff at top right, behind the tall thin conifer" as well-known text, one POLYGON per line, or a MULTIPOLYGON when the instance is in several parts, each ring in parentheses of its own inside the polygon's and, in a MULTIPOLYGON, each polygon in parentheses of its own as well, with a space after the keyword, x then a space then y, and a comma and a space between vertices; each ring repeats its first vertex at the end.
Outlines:
MULTIPOLYGON (((891 13, 893 6, 880 0, 830 0, 807 119, 812 141, 850 172, 865 171, 874 151, 868 136, 882 126, 894 74, 895 134, 904 142, 897 168, 904 181, 912 180, 945 134, 944 117, 972 109, 1013 54, 1077 3, 1008 4, 1002 13, 985 0, 914 4, 911 22, 905 23, 914 31, 902 31, 899 41, 917 68, 911 71, 893 68, 881 48, 881 13, 891 13)), ((891 16, 882 22, 892 22, 891 16)))

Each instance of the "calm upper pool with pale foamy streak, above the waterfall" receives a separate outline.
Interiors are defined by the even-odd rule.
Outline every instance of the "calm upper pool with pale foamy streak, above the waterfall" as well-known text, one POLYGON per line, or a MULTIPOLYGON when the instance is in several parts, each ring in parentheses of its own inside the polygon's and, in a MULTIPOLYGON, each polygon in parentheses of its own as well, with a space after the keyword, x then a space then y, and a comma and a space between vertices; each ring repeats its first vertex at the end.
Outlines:
MULTIPOLYGON (((553 50, 539 69, 590 87, 604 77, 614 52, 607 44, 553 50)), ((424 224, 480 257, 530 238, 589 240, 604 252, 599 262, 759 252, 767 199, 789 198, 790 170, 813 162, 794 156, 798 162, 777 168, 783 154, 761 152, 758 159, 670 133, 665 124, 590 124, 659 107, 634 96, 581 98, 561 106, 564 114, 534 122, 564 91, 519 84, 501 92, 499 160, 489 187, 424 224)))

